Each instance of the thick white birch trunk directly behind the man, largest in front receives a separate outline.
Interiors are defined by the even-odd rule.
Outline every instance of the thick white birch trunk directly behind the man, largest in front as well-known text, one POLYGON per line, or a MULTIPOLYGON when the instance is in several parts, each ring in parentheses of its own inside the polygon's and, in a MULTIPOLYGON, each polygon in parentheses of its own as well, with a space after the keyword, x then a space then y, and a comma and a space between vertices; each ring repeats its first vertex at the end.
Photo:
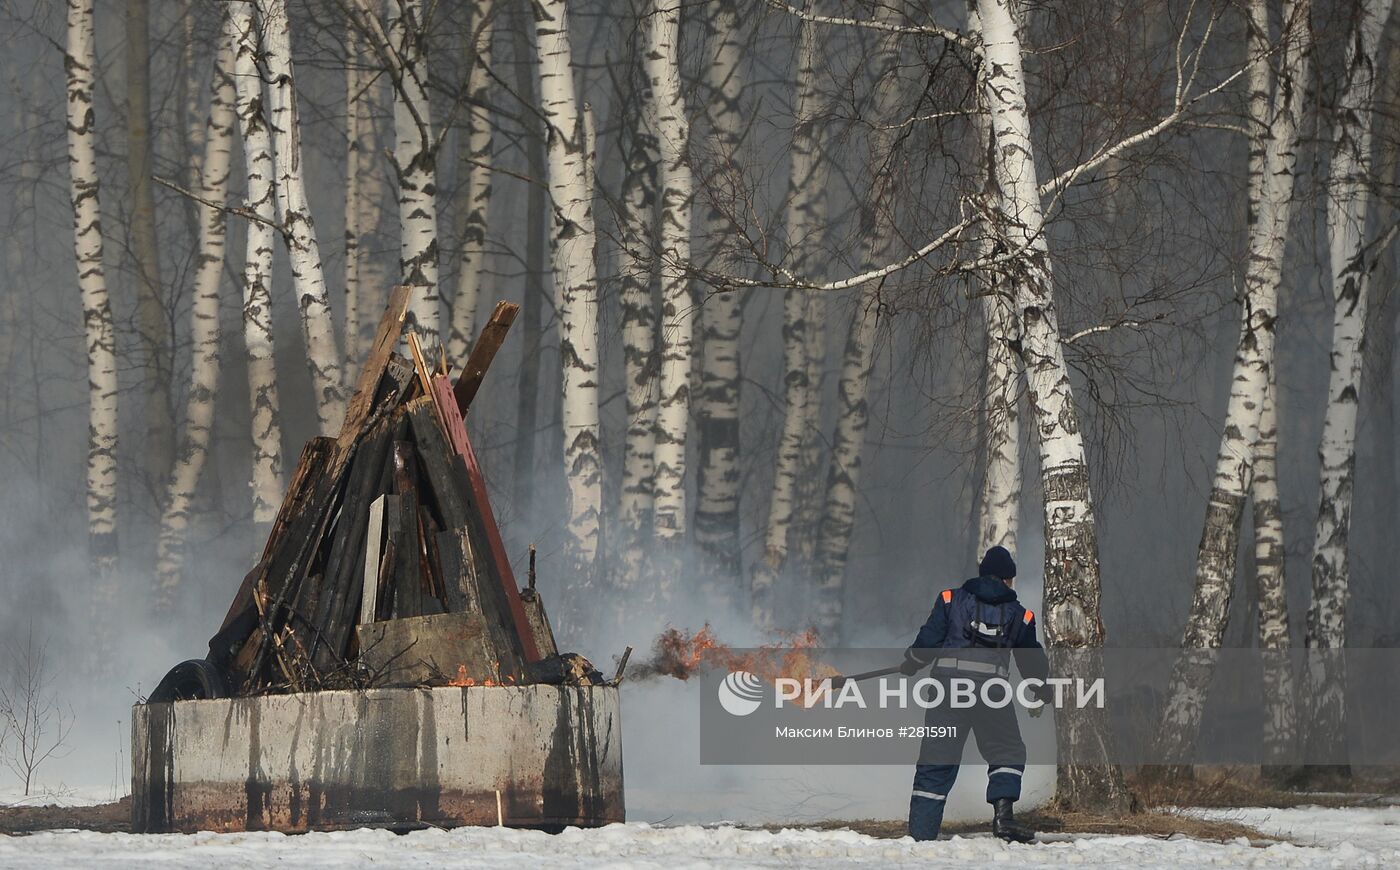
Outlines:
MULTIPOLYGON (((1095 650, 1103 646, 1099 545, 1079 415, 1051 293, 1021 35, 1009 0, 977 0, 977 17, 986 64, 980 90, 1001 203, 997 231, 1021 252, 1009 279, 1015 282, 1028 398, 1039 436, 1046 640, 1051 649, 1084 650, 1079 654, 1093 672, 1095 650)), ((1074 761, 1057 768, 1056 799, 1075 808, 1126 813, 1128 793, 1121 769, 1109 762, 1103 716, 1088 709, 1060 710, 1057 726, 1061 751, 1071 750, 1074 761)))

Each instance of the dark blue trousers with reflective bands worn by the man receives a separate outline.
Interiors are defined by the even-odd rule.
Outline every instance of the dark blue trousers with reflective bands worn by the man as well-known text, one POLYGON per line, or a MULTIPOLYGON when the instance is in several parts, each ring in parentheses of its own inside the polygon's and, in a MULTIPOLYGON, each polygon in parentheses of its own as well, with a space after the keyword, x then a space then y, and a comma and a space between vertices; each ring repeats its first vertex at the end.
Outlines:
POLYGON ((944 806, 958 779, 967 734, 976 734, 977 751, 987 762, 987 803, 1021 797, 1021 776, 1026 771, 1026 744, 1021 740, 1016 710, 976 706, 967 709, 931 707, 924 713, 925 726, 955 729, 946 737, 924 737, 914 766, 914 792, 909 799, 909 834, 914 839, 938 839, 944 825, 944 806))

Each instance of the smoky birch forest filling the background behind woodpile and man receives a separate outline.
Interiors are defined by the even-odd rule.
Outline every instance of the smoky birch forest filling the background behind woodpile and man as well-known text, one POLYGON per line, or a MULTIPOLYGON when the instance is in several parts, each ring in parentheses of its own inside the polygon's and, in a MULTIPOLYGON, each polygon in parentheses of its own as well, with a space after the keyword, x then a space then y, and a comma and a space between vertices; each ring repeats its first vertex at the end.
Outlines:
POLYGON ((1400 646, 1390 0, 0 17, 0 633, 84 709, 202 654, 395 284, 454 371, 519 305, 466 424, 595 661, 903 647, 993 545, 1049 647, 1179 650, 1172 757, 1218 649, 1400 646))

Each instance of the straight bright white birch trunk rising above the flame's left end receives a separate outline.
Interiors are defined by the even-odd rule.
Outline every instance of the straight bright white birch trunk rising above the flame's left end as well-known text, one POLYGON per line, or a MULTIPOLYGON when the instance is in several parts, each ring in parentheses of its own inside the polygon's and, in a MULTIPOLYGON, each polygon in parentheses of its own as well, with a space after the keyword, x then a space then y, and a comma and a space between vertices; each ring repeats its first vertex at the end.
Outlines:
MULTIPOLYGON (((657 409, 657 471, 652 530, 662 545, 686 537, 686 424, 690 417, 693 297, 686 279, 690 262, 693 181, 687 163, 689 123, 680 91, 680 6, 658 0, 648 15, 645 74, 651 91, 647 118, 657 137, 661 251, 661 380, 657 409), (664 3, 665 6, 661 6, 664 3)), ((657 577, 658 593, 672 574, 657 577)))

